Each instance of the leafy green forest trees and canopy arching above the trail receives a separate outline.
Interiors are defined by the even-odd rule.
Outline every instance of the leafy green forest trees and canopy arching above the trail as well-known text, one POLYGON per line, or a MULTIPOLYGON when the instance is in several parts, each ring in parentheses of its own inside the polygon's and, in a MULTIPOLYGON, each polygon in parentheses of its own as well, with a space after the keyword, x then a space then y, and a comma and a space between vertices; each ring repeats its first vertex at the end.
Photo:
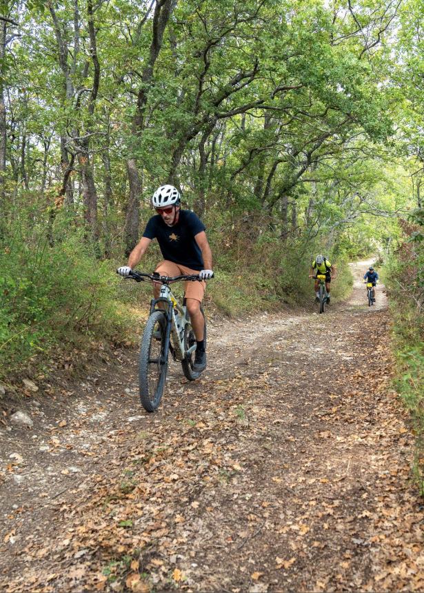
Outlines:
POLYGON ((329 250, 421 205, 422 1, 1 6, 3 233, 30 217, 52 245, 60 214, 128 253, 167 182, 253 241, 329 250))

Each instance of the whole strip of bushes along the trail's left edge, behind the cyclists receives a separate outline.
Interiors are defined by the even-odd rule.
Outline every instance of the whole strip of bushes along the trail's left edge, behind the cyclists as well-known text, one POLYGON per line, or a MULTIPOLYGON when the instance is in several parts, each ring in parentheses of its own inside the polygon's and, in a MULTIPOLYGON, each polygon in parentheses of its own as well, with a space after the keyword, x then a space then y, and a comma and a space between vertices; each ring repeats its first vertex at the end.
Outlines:
MULTIPOLYGON (((211 225, 214 228, 214 225, 211 225)), ((99 261, 81 232, 68 232, 65 221, 53 247, 43 228, 21 225, 3 241, 0 252, 0 380, 7 382, 28 366, 44 368, 48 359, 72 348, 88 350, 97 342, 137 341, 134 327, 148 313, 147 283, 117 277, 120 259, 99 261), (26 228, 26 231, 23 229, 26 228)), ((208 283, 206 305, 226 316, 304 305, 313 298, 307 274, 310 259, 301 239, 288 248, 282 241, 246 240, 242 234, 223 243, 211 232, 216 279, 208 283)), ((161 259, 150 248, 142 268, 161 259)), ((352 279, 343 262, 332 285, 335 299, 350 291, 352 279)), ((176 287, 176 292, 182 287, 176 287)))

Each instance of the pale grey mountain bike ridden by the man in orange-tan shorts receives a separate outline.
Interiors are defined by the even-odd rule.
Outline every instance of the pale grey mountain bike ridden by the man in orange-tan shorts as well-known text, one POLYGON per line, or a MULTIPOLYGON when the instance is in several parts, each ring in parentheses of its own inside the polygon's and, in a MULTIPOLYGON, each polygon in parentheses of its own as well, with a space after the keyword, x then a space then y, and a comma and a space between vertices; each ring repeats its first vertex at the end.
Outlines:
MULTIPOLYGON (((201 373, 193 369, 196 336, 190 323, 190 315, 185 306, 176 301, 170 284, 183 281, 199 281, 199 274, 190 276, 161 276, 157 272, 145 274, 130 272, 128 278, 137 282, 161 283, 159 299, 150 302, 150 315, 143 336, 139 355, 140 401, 147 412, 154 412, 161 402, 168 373, 168 354, 174 361, 181 362, 183 373, 189 381, 197 379, 201 373)), ((201 308, 203 317, 203 308, 201 308)), ((206 321, 204 341, 206 345, 206 321)))

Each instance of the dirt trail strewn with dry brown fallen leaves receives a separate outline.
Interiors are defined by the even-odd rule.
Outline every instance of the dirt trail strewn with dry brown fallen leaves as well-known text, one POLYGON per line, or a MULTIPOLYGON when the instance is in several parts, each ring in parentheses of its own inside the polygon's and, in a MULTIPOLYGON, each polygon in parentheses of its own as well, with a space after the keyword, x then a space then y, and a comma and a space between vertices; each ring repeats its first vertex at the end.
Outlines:
POLYGON ((34 426, 1 434, 4 590, 424 590, 412 436, 366 265, 323 315, 212 321, 208 370, 189 384, 172 364, 155 414, 134 352, 28 400, 34 426))

